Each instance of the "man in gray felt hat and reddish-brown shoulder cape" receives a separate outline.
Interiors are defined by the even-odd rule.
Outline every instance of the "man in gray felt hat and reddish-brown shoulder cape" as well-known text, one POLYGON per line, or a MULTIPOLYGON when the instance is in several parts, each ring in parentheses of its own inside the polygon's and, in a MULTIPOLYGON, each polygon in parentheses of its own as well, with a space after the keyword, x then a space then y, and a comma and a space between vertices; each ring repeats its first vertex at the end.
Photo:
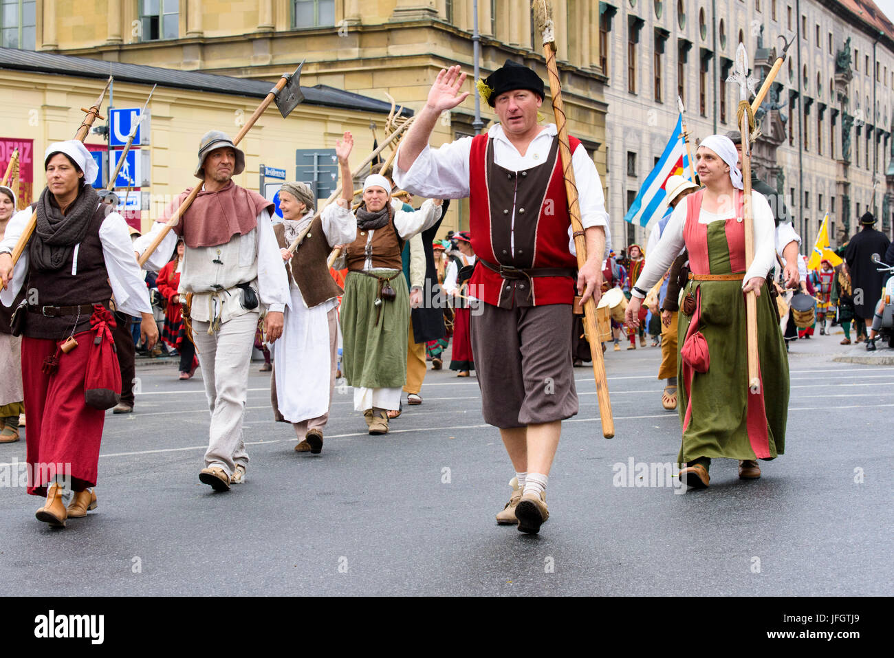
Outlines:
MULTIPOLYGON (((274 342, 283 334, 283 309, 291 304, 271 223, 274 205, 232 181, 244 169, 245 154, 232 139, 208 131, 195 171, 202 190, 158 247, 170 254, 178 237, 186 244, 179 292, 181 299, 192 296, 192 337, 211 411, 206 468, 198 479, 215 491, 241 483, 249 463, 242 421, 258 318, 265 317, 266 340, 274 342)), ((189 193, 174 199, 163 222, 189 193)), ((134 243, 138 253, 160 225, 134 243)))

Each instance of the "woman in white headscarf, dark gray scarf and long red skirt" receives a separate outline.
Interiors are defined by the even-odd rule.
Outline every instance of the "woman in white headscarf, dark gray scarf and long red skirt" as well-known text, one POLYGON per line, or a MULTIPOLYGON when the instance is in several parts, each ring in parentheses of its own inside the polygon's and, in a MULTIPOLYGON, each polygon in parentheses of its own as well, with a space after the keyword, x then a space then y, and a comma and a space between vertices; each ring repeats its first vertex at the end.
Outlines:
POLYGON ((105 409, 120 399, 114 382, 91 387, 87 375, 89 367, 111 369, 109 359, 96 357, 114 348, 108 308, 113 293, 118 310, 142 316, 142 338, 150 348, 158 328, 127 224, 90 186, 97 164, 87 148, 77 139, 51 144, 44 167, 46 188, 33 211, 14 215, 0 242, 0 301, 9 307, 27 291, 13 326, 22 334, 28 493, 46 495, 38 520, 64 527, 66 519, 97 506, 91 487, 97 484, 105 409), (13 269, 11 253, 32 212, 34 234, 13 269))

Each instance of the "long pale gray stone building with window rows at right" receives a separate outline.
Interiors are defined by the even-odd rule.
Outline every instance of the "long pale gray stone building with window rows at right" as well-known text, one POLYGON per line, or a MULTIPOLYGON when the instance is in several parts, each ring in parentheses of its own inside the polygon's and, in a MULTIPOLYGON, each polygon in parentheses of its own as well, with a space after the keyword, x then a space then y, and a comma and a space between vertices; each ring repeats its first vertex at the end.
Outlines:
POLYGON ((894 25, 870 0, 610 0, 600 3, 600 30, 616 236, 641 242, 649 231, 622 217, 677 121, 678 95, 695 152, 698 139, 737 128, 738 88, 726 79, 738 43, 763 80, 780 36, 794 41, 758 113, 759 175, 784 195, 802 251, 826 212, 833 242, 867 207, 891 233, 894 25))

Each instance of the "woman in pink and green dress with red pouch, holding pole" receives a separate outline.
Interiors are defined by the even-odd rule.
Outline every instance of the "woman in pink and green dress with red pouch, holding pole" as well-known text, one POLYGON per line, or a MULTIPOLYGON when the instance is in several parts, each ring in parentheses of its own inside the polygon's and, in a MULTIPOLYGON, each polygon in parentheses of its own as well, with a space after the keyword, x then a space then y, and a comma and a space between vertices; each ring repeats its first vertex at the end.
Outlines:
POLYGON ((683 442, 680 477, 708 485, 711 460, 739 461, 739 477, 754 479, 756 460, 782 454, 789 408, 789 362, 779 317, 766 281, 774 264, 775 223, 767 199, 752 192, 755 258, 745 261, 742 173, 736 147, 712 135, 696 151, 703 190, 673 211, 658 247, 649 254, 627 308, 628 325, 648 291, 684 246, 691 273, 679 314, 679 414, 683 442), (761 392, 748 392, 745 294, 757 295, 761 392))

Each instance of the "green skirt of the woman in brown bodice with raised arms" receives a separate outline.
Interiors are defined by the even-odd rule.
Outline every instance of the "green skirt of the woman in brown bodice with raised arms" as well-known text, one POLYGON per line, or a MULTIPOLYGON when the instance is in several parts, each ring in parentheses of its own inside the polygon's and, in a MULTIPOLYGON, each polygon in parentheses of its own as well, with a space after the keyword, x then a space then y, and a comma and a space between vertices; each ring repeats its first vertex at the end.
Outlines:
MULTIPOLYGON (((390 276, 394 270, 371 274, 390 276)), ((389 282, 395 299, 375 306, 379 282, 372 276, 349 272, 344 282, 342 321, 342 372, 350 386, 398 388, 407 381, 409 290, 397 270, 389 282)))

